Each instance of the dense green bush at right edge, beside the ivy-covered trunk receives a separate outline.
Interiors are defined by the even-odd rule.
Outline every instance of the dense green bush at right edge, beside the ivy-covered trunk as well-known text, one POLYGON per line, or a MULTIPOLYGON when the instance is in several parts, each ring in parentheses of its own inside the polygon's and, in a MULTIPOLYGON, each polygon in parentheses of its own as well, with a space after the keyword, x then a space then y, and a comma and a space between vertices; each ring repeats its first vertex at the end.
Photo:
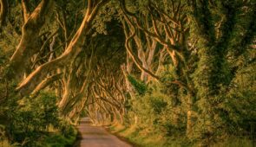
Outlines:
POLYGON ((233 79, 222 109, 229 132, 256 136, 256 64, 239 70, 233 79))

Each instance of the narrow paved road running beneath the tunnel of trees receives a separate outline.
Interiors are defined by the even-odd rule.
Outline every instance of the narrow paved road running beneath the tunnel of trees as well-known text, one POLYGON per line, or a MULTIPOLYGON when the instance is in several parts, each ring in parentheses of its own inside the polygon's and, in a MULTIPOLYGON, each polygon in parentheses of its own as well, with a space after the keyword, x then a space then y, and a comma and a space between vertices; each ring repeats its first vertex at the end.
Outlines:
POLYGON ((89 118, 82 118, 80 122, 77 128, 81 138, 75 147, 131 147, 130 144, 121 141, 103 127, 91 125, 89 118))

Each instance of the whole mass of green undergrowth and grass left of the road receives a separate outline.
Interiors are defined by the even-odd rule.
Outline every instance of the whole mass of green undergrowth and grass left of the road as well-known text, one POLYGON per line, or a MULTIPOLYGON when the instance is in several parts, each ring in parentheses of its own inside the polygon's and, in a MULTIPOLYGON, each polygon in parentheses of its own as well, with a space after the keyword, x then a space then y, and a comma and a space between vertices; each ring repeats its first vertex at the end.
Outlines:
POLYGON ((59 115, 56 100, 53 93, 43 92, 0 105, 0 147, 72 146, 77 131, 59 115))

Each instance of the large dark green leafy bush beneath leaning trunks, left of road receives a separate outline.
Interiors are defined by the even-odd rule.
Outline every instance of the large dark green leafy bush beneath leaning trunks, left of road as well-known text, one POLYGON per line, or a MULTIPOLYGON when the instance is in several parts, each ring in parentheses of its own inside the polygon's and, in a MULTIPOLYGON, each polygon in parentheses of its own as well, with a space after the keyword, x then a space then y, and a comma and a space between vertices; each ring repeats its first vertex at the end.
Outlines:
POLYGON ((59 124, 56 96, 50 93, 40 93, 36 98, 24 98, 10 107, 10 119, 7 125, 8 136, 12 142, 33 146, 36 141, 48 134, 49 125, 59 124))

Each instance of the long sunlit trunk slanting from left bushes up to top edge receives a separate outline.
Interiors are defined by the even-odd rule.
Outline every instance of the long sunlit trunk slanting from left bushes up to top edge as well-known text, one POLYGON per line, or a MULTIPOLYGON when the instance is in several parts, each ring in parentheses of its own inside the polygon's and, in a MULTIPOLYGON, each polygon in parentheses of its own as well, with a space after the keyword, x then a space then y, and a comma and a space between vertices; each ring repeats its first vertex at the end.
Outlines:
POLYGON ((69 42, 68 48, 65 52, 56 58, 53 61, 49 61, 42 66, 38 67, 34 72, 32 72, 23 82, 16 88, 22 95, 30 94, 34 87, 45 78, 45 76, 50 72, 55 70, 57 67, 63 67, 69 61, 73 61, 73 59, 80 54, 82 50, 82 44, 85 39, 85 35, 91 29, 91 23, 94 20, 95 16, 98 13, 98 10, 105 4, 108 3, 109 0, 101 1, 96 3, 93 7, 91 1, 89 0, 89 7, 87 9, 86 15, 83 18, 82 24, 80 28, 76 31, 73 36, 71 42, 69 42), (71 60, 70 60, 71 59, 71 60))

